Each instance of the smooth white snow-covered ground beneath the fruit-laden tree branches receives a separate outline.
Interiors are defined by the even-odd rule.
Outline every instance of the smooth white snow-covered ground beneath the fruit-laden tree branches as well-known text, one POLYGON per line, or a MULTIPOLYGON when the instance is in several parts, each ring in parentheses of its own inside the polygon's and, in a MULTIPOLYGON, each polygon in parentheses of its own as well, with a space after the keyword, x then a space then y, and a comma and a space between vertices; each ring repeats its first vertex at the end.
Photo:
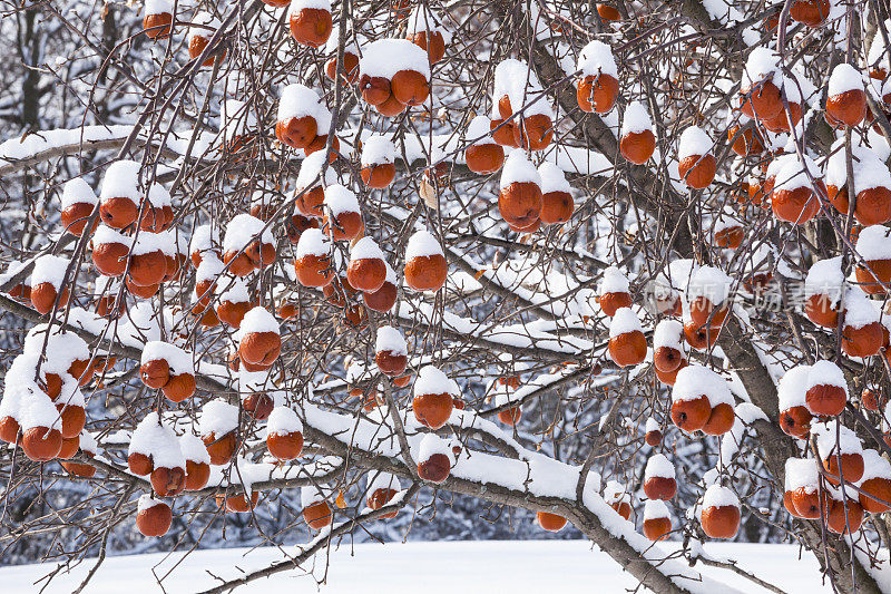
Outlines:
MULTIPOLYGON (((831 592, 820 580, 816 562, 810 553, 799 561, 799 549, 786 545, 752 545, 709 543, 706 551, 732 558, 762 580, 790 594, 831 592)), ((88 594, 161 593, 156 576, 165 576, 182 555, 136 555, 106 559, 86 588, 88 594), (166 557, 166 558, 165 558, 166 557)), ((193 553, 164 580, 169 594, 199 592, 218 583, 219 577, 236 577, 243 571, 256 569, 282 558, 274 548, 248 552, 245 548, 202 551, 193 553)), ((591 551, 588 543, 578 541, 510 541, 362 544, 341 546, 327 555, 316 556, 314 565, 304 571, 291 571, 263 578, 237 592, 264 594, 315 592, 312 571, 325 576, 322 594, 423 594, 454 592, 548 592, 559 586, 561 592, 620 593, 634 588, 635 580, 623 573, 606 554, 591 551)), ((69 593, 75 590, 91 563, 81 564, 69 574, 53 580, 46 593, 69 593)), ((702 565, 697 565, 702 568, 702 565)), ((52 569, 50 565, 23 565, 0 569, 2 592, 37 592, 35 583, 52 569)), ((705 572, 743 592, 765 590, 726 571, 705 568, 705 572)), ((42 585, 42 583, 40 584, 42 585)))

